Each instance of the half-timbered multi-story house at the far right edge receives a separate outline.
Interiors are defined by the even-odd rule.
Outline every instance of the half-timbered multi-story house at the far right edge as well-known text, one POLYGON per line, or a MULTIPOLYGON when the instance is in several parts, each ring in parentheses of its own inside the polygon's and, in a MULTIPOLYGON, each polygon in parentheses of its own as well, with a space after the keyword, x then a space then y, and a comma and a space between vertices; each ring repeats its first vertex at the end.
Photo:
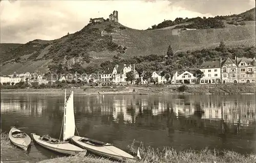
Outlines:
POLYGON ((255 83, 255 58, 237 58, 238 83, 255 83))

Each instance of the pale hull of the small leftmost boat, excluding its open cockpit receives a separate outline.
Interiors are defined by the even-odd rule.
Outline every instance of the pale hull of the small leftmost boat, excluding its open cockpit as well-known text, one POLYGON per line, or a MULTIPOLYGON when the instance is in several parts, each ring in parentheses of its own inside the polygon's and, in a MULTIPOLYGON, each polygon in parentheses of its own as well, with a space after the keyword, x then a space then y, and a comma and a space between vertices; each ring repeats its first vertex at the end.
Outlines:
POLYGON ((8 134, 10 142, 12 142, 12 144, 14 144, 15 146, 27 151, 28 147, 30 146, 30 143, 31 143, 31 138, 29 137, 29 135, 27 133, 25 133, 26 134, 25 138, 14 138, 12 136, 13 131, 20 131, 20 130, 15 127, 12 127, 10 129, 9 134, 8 134))

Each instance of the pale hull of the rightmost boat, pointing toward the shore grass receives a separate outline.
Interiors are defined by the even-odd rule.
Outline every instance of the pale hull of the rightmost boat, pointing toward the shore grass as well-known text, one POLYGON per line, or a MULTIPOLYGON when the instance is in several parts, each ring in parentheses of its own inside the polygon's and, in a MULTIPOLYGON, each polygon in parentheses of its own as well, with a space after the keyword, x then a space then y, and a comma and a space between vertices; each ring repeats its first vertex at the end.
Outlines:
MULTIPOLYGON (((72 142, 80 148, 87 149, 88 151, 95 153, 100 156, 116 159, 116 160, 130 160, 136 161, 136 157, 124 152, 123 150, 114 147, 111 144, 106 144, 103 146, 95 146, 79 141, 82 137, 74 136, 71 138, 72 142)), ((88 138, 86 138, 88 139, 88 138)))

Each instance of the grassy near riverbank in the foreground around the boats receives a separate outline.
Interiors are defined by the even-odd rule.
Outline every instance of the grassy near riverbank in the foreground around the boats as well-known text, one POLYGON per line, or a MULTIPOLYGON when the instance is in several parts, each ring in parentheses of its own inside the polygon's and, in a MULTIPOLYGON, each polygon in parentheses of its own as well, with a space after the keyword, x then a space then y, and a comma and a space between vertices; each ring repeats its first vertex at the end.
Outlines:
MULTIPOLYGON (((170 147, 164 147, 162 150, 153 149, 151 147, 144 147, 141 142, 134 141, 127 148, 129 149, 129 153, 136 155, 137 149, 140 150, 141 159, 138 159, 136 162, 180 162, 180 163, 193 163, 193 162, 230 162, 230 163, 253 163, 256 161, 255 154, 242 155, 233 151, 228 150, 210 150, 210 149, 202 149, 201 151, 195 150, 183 150, 176 151, 170 147), (135 146, 136 145, 136 146, 135 146)), ((33 147, 32 147, 33 148, 33 147)), ((21 150, 15 148, 8 140, 8 135, 6 133, 1 132, 1 161, 5 161, 3 159, 3 155, 9 153, 12 155, 13 153, 17 153, 16 150, 21 150)), ((18 157, 17 157, 18 158, 18 157)), ((24 158, 23 158, 24 159, 24 158)), ((29 159, 29 158, 28 158, 29 159)), ((14 160, 13 160, 14 161, 14 160)), ((20 161, 20 160, 16 160, 20 161)), ((23 160, 26 161, 26 160, 23 160)), ((29 160, 27 161, 29 162, 29 160)), ((67 157, 57 157, 47 160, 38 161, 38 163, 111 163, 117 162, 103 157, 95 157, 88 155, 86 157, 81 157, 79 155, 76 156, 67 156, 67 157)))

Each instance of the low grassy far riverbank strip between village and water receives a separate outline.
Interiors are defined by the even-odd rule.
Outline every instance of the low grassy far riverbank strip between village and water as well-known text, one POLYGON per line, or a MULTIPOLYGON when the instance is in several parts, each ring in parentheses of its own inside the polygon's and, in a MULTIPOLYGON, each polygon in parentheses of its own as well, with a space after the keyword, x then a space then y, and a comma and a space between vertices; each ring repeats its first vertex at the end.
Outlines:
MULTIPOLYGON (((8 86, 12 87, 12 86, 8 86)), ((76 94, 255 94, 255 84, 212 85, 133 85, 133 86, 67 86, 63 88, 1 88, 1 93, 62 94, 72 89, 76 94)))

